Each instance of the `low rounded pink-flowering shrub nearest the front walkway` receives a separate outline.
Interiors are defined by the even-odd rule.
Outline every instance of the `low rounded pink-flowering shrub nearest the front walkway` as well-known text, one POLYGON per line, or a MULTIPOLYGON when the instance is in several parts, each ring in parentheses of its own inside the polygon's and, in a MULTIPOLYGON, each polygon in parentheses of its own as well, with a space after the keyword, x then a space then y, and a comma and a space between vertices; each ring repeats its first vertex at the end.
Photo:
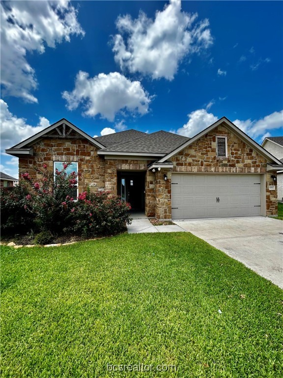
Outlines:
POLYGON ((130 204, 121 201, 117 195, 109 196, 110 192, 84 191, 79 195, 73 209, 73 230, 84 236, 111 235, 121 232, 126 224, 130 224, 130 204))

